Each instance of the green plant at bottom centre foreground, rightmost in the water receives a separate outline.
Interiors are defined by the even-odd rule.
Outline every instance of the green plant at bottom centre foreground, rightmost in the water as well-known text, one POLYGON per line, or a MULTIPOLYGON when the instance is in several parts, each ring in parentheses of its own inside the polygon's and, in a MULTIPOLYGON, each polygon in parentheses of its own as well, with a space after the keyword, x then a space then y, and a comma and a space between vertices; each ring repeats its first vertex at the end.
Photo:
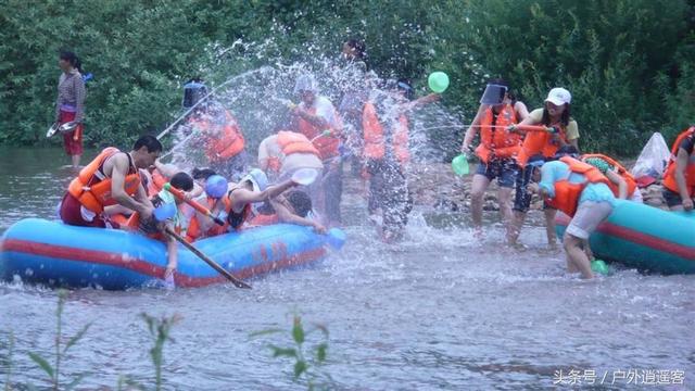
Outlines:
MULTIPOLYGON (((279 333, 286 330, 267 329, 251 333, 250 337, 279 333)), ((268 344, 273 351, 273 357, 289 357, 294 360, 294 381, 305 381, 308 390, 325 390, 332 383, 330 375, 321 370, 328 354, 328 329, 324 325, 314 325, 309 330, 305 330, 302 318, 294 315, 292 330, 290 331, 293 345, 278 346, 268 344), (306 337, 315 331, 320 331, 323 339, 312 348, 306 346, 306 337)))

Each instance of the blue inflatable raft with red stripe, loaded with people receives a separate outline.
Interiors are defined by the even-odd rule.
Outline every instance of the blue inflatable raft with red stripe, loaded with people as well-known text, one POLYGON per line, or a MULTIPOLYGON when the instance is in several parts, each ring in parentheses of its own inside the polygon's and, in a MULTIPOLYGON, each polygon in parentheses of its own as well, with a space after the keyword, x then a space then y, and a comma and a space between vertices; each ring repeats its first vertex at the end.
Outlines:
MULTIPOLYGON (((277 269, 307 264, 327 254, 336 236, 311 228, 274 225, 226 234, 195 247, 237 278, 248 279, 277 269), (332 239, 332 240, 331 240, 332 239)), ((166 267, 164 243, 114 229, 73 227, 27 218, 14 224, 0 242, 0 279, 61 286, 123 290, 161 286, 166 267)), ((203 287, 226 279, 179 244, 177 287, 203 287)))

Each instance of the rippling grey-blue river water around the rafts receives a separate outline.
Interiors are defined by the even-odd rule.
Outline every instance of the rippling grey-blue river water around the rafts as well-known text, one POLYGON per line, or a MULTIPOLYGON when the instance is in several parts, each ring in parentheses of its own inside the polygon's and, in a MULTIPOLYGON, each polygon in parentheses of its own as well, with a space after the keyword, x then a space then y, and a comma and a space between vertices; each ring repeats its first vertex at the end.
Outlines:
MULTIPOLYGON (((65 163, 60 150, 0 150, 0 231, 25 217, 53 218, 73 175, 65 163)), ((292 380, 292 362, 267 348, 289 345, 289 331, 250 337, 289 330, 296 313, 330 332, 321 369, 333 389, 556 389, 571 387, 572 369, 584 384, 594 375, 598 389, 695 388, 695 276, 623 269, 580 281, 564 273, 561 253, 543 250, 538 225, 522 234, 529 249, 517 252, 501 245, 498 225, 480 243, 467 218, 426 206, 416 207, 405 242, 387 245, 363 223, 364 210, 349 192, 342 252, 253 280, 251 291, 72 292, 65 333, 93 324, 66 357, 64 379, 88 373, 84 389, 113 389, 122 375, 151 382, 151 340, 139 314, 176 313, 166 389, 306 389, 292 380), (648 370, 668 371, 668 382, 684 374, 685 383, 646 386, 655 383, 648 370)), ((10 331, 16 339, 13 381, 42 384, 27 353, 51 355, 55 302, 45 288, 0 285, 0 341, 10 331)), ((7 371, 0 367, 0 383, 7 371)))

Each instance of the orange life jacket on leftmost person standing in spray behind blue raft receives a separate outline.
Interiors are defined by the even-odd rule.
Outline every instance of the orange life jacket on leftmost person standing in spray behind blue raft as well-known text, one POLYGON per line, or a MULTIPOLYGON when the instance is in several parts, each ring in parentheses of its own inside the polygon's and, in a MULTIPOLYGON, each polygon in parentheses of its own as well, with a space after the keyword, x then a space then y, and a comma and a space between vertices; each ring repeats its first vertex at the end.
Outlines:
POLYGON ((219 162, 236 156, 244 148, 244 139, 237 119, 225 110, 225 123, 216 124, 215 118, 192 118, 191 124, 206 136, 205 155, 211 162, 219 162))

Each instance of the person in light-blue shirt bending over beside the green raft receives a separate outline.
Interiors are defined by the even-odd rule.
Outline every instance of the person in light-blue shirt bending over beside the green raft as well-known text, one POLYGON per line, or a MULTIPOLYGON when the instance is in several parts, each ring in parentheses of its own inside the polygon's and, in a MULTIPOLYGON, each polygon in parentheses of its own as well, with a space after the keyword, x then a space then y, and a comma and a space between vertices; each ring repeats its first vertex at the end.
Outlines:
POLYGON ((571 217, 563 238, 567 269, 580 272, 583 278, 593 278, 589 237, 608 218, 616 204, 609 180, 596 167, 569 155, 543 162, 542 155, 527 162, 533 181, 527 190, 571 217), (539 163, 543 164, 541 168, 539 163))

